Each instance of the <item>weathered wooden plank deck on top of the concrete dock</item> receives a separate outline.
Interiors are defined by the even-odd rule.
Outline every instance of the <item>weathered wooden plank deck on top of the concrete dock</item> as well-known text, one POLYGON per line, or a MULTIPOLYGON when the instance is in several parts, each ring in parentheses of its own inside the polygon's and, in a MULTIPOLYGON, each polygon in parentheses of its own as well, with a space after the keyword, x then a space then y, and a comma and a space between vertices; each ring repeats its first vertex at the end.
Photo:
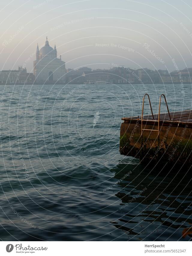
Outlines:
MULTIPOLYGON (((160 114, 160 124, 161 125, 168 125, 172 124, 174 126, 183 126, 188 125, 192 127, 192 110, 183 110, 178 112, 170 112, 171 120, 168 113, 160 114)), ((134 117, 123 117, 122 120, 125 123, 136 123, 141 122, 141 116, 134 116, 134 117)), ((158 124, 158 114, 154 115, 154 119, 152 115, 145 115, 143 116, 143 123, 156 125, 158 124)))

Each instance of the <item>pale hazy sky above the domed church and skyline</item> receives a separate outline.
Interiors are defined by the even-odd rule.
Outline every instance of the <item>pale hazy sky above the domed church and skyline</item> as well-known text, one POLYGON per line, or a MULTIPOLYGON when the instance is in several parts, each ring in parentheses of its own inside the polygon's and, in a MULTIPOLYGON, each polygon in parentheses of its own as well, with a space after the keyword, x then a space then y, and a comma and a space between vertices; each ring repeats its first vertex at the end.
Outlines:
POLYGON ((37 43, 56 43, 66 68, 192 67, 189 0, 1 1, 0 69, 32 72, 37 43), (102 45, 103 44, 103 45, 102 45), (114 64, 113 64, 114 63, 114 64))

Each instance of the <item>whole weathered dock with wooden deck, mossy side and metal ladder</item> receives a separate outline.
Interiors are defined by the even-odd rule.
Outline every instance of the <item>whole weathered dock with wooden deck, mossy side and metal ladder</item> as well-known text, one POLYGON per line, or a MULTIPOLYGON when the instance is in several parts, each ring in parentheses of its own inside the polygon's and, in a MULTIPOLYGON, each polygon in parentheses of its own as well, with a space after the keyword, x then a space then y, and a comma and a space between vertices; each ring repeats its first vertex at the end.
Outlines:
MULTIPOLYGON (((146 95, 149 97, 148 94, 146 95)), ((161 161, 190 167, 192 110, 169 112, 167 106, 168 113, 160 114, 161 96, 157 115, 153 115, 152 112, 152 115, 143 116, 142 110, 141 116, 122 118, 124 122, 120 130, 120 153, 140 158, 141 162, 161 161)), ((165 102, 167 104, 166 99, 165 102)))

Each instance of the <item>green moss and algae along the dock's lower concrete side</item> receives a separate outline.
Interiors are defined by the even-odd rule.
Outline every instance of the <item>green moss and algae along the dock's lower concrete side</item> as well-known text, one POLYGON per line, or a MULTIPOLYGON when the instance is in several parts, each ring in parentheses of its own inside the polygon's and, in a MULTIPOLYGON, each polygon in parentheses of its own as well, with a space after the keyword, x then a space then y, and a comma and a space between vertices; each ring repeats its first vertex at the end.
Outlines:
POLYGON ((135 135, 130 140, 128 134, 120 137, 120 153, 122 155, 134 156, 140 158, 143 163, 157 163, 158 161, 166 162, 168 165, 183 164, 189 166, 192 164, 192 141, 183 139, 179 142, 180 137, 175 136, 172 141, 166 141, 161 147, 158 141, 143 140, 141 146, 141 138, 135 135))

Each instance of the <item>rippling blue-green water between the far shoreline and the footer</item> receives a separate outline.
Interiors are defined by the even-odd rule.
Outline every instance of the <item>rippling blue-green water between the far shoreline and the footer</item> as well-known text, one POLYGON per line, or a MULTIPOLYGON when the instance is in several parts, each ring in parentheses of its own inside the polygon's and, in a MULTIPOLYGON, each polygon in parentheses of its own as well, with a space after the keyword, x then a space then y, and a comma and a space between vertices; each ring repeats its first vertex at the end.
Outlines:
POLYGON ((144 93, 154 113, 161 93, 170 111, 191 109, 190 84, 184 96, 177 84, 0 87, 1 240, 192 238, 191 172, 119 153, 121 117, 140 115, 144 93))

